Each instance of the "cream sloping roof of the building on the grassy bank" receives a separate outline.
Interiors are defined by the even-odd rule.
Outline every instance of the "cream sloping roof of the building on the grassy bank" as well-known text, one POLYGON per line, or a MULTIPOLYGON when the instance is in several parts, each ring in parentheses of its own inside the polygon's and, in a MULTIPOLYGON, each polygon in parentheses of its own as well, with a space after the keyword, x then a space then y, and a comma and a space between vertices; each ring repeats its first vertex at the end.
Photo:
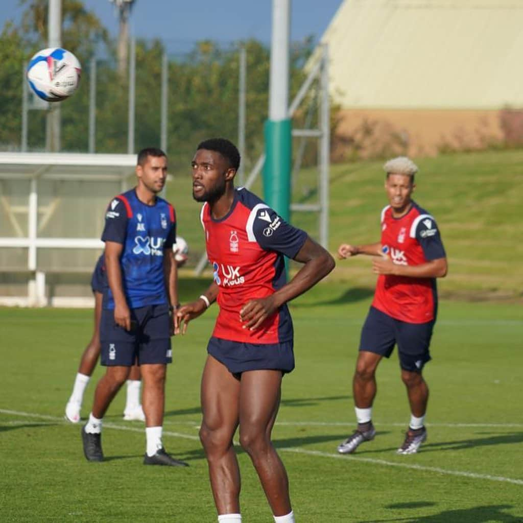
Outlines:
POLYGON ((523 0, 345 0, 321 41, 344 108, 523 107, 523 0))

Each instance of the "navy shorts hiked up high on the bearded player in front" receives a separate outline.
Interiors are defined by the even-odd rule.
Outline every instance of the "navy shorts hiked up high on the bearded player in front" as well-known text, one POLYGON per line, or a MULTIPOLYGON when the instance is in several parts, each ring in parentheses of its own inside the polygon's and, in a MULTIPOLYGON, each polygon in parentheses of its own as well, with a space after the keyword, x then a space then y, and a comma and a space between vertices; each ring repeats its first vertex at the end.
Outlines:
POLYGON ((284 374, 294 369, 293 342, 263 344, 231 342, 228 339, 209 340, 207 352, 229 369, 232 374, 246 370, 281 370, 284 374))

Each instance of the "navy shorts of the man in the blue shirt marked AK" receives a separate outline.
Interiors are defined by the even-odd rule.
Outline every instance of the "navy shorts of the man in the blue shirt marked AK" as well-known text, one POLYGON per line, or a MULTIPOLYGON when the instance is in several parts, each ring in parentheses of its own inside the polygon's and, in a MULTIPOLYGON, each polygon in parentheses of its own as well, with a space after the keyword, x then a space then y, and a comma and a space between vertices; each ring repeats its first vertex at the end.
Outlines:
POLYGON ((115 323, 115 311, 104 309, 100 322, 100 363, 131 367, 172 362, 169 306, 147 305, 131 309, 131 330, 115 323))

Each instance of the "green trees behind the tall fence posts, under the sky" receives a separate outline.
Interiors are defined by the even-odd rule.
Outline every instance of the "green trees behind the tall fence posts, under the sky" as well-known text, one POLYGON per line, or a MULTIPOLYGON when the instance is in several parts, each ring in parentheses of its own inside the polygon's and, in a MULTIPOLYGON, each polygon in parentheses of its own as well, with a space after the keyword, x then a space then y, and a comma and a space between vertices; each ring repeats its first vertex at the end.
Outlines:
MULTIPOLYGON (((0 56, 8 60, 2 68, 4 85, 18 88, 0 102, 9 108, 7 128, 0 134, 4 148, 17 147, 21 126, 20 77, 24 61, 36 50, 46 47, 47 0, 20 0, 26 6, 20 28, 7 25, 2 33, 0 56), (22 38, 20 35, 24 35, 22 38), (13 52, 14 50, 14 52, 13 52), (7 54, 10 52, 10 54, 7 54), (18 66, 18 70, 16 67, 18 66)), ((88 146, 88 110, 90 60, 97 61, 95 149, 100 153, 124 153, 128 150, 129 83, 116 72, 116 46, 100 20, 81 0, 63 0, 62 46, 72 51, 82 64, 82 82, 69 100, 61 104, 62 150, 85 152, 88 146)), ((293 96, 303 81, 302 67, 312 51, 312 39, 293 44, 291 50, 290 89, 293 96)), ((247 54, 246 154, 248 170, 263 152, 263 122, 268 111, 269 49, 255 40, 228 46, 203 40, 183 56, 168 62, 168 144, 170 165, 188 165, 199 141, 223 136, 238 137, 238 50, 247 54)), ((162 56, 160 40, 139 40, 136 46, 135 141, 134 150, 160 144, 162 56)), ((43 111, 29 117, 29 145, 44 146, 43 111)), ((298 119, 300 115, 298 116, 298 119)), ((0 114, 1 124, 7 122, 0 114)))

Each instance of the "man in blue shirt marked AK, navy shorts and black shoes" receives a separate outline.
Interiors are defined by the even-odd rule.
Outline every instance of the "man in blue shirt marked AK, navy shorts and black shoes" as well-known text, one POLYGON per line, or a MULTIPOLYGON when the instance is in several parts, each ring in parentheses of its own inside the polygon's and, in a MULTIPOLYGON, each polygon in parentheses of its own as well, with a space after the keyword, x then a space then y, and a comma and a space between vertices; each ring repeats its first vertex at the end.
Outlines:
POLYGON ((166 364, 172 360, 170 335, 176 330, 178 305, 173 207, 158 197, 167 177, 167 157, 160 149, 138 154, 137 186, 114 198, 107 208, 102 240, 108 288, 100 320, 101 364, 105 376, 96 387, 93 410, 82 428, 84 454, 103 460, 101 419, 129 376, 134 361, 143 380, 146 465, 187 465, 162 445, 166 364))

